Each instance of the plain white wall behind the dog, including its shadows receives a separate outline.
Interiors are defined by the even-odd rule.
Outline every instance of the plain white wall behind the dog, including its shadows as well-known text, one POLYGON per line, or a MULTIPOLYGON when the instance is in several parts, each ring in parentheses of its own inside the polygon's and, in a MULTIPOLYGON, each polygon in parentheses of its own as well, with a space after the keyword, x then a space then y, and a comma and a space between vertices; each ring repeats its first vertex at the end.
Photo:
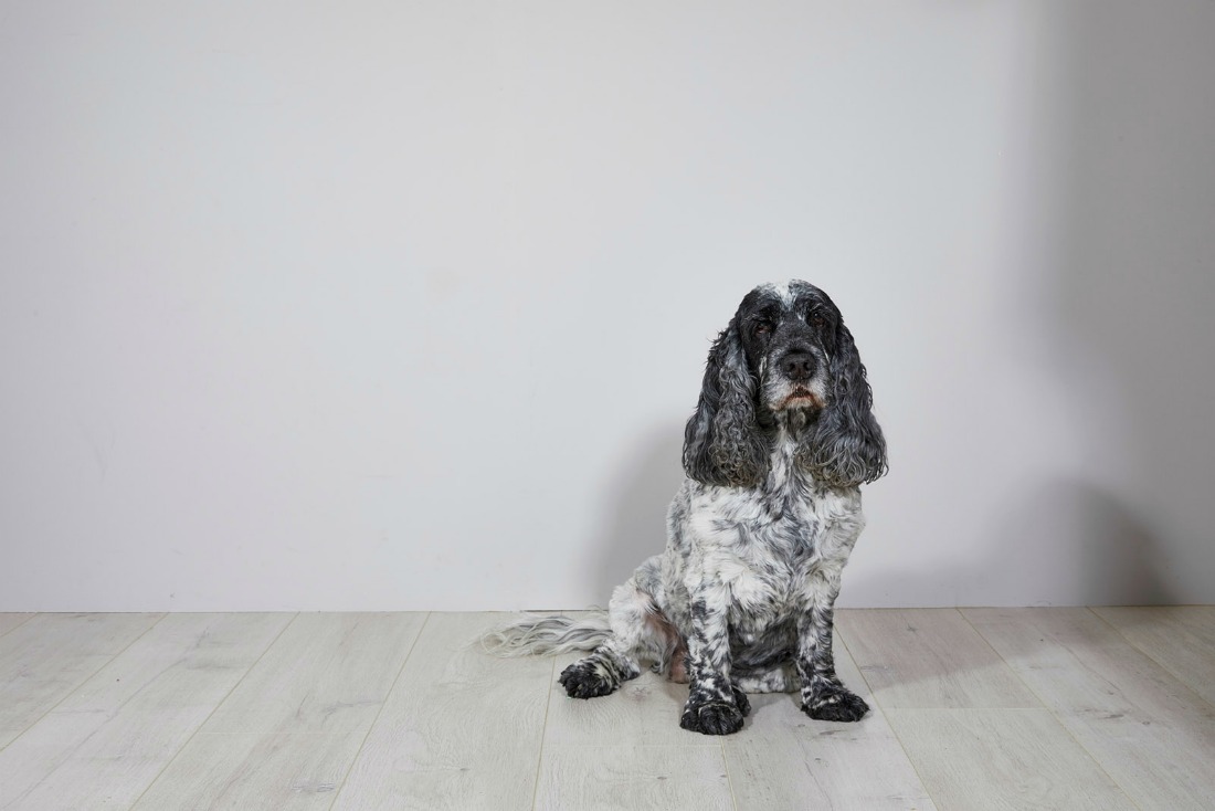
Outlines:
POLYGON ((0 610, 604 603, 790 276, 842 603, 1215 602, 1215 5, 316 5, 6 4, 0 610))

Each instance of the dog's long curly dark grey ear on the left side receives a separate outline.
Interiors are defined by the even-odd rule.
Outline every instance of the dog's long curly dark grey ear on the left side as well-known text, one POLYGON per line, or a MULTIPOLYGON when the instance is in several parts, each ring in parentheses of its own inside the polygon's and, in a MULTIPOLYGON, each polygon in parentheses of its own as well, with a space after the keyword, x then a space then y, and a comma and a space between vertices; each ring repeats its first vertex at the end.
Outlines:
POLYGON ((768 440, 756 423, 755 399, 735 316, 708 353, 696 413, 684 429, 689 478, 730 488, 755 488, 768 478, 768 440))

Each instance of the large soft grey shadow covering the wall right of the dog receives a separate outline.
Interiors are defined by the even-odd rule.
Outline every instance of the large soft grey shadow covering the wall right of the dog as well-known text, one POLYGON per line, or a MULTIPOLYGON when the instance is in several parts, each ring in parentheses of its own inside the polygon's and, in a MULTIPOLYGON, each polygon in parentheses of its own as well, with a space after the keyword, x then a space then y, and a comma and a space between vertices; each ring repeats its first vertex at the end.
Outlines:
POLYGON ((1079 456, 1012 490, 956 564, 846 573, 841 604, 1215 602, 1215 5, 1038 9, 1050 68, 1019 137, 1050 159, 1018 205, 1041 288, 1012 306, 1079 456))

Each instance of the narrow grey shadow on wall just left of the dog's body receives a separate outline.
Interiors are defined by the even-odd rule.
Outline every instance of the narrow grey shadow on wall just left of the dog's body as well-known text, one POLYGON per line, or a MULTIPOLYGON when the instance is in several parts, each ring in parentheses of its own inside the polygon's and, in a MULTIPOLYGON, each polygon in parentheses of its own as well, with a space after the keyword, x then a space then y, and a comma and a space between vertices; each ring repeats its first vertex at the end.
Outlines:
POLYGON ((594 595, 588 604, 608 607, 612 590, 667 542, 667 506, 683 484, 683 422, 655 428, 638 445, 604 496, 604 523, 592 540, 594 595))

